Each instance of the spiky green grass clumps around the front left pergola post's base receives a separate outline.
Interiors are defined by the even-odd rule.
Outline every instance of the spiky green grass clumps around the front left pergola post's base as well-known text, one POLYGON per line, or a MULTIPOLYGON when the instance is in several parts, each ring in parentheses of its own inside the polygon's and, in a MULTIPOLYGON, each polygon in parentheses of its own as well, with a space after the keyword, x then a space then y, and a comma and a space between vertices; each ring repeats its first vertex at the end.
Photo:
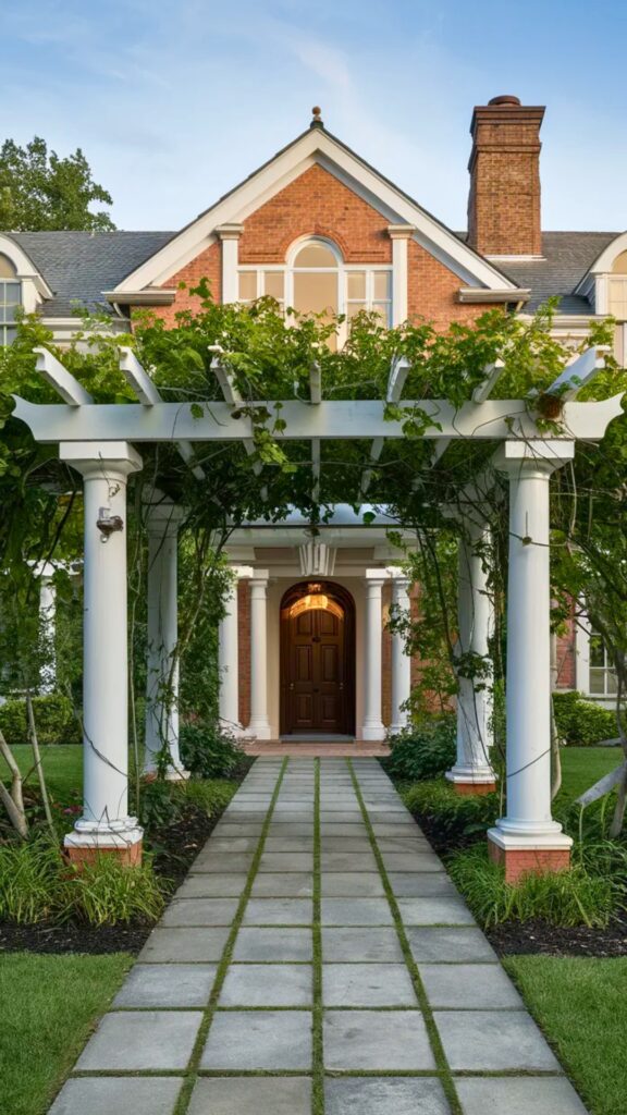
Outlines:
POLYGON ((164 898, 152 862, 125 866, 113 855, 71 867, 60 847, 36 837, 0 847, 0 918, 33 923, 56 918, 90 925, 155 921, 164 898))

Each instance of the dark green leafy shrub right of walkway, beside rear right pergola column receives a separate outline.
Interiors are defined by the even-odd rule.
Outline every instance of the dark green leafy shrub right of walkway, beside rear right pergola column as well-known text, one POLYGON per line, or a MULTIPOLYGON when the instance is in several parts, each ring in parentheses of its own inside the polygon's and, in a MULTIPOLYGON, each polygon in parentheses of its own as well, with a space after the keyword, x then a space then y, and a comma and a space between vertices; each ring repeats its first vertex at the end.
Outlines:
POLYGON ((392 755, 382 760, 385 770, 404 782, 437 778, 455 763, 457 721, 454 715, 438 717, 392 736, 392 755))

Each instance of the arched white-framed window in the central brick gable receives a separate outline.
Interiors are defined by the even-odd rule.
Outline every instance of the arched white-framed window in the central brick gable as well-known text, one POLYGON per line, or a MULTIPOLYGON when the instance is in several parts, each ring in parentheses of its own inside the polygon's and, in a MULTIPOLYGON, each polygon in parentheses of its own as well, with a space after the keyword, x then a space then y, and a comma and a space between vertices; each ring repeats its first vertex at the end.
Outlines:
POLYGON ((346 264, 331 241, 299 241, 286 264, 240 266, 239 301, 252 302, 269 294, 281 307, 299 313, 346 314, 372 310, 384 326, 392 324, 392 268, 346 264))

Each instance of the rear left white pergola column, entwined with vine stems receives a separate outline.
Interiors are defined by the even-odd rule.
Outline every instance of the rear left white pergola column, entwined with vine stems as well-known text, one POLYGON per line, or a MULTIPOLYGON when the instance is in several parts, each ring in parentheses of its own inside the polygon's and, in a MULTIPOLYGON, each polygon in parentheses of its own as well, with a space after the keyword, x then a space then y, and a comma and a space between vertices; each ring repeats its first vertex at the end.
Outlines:
POLYGON ((144 774, 161 764, 168 782, 189 777, 179 753, 179 526, 183 510, 167 500, 146 508, 148 535, 146 740, 144 774))

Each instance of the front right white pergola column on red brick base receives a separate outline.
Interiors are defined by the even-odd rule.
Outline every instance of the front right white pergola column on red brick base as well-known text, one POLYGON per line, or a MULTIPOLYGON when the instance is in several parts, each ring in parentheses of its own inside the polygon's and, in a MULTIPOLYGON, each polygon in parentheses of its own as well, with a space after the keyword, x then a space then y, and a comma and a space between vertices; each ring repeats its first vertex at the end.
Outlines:
POLYGON ((551 817, 549 484, 572 459, 572 442, 507 442, 510 481, 508 579, 508 812, 488 833, 505 878, 559 870, 572 841, 551 817))

